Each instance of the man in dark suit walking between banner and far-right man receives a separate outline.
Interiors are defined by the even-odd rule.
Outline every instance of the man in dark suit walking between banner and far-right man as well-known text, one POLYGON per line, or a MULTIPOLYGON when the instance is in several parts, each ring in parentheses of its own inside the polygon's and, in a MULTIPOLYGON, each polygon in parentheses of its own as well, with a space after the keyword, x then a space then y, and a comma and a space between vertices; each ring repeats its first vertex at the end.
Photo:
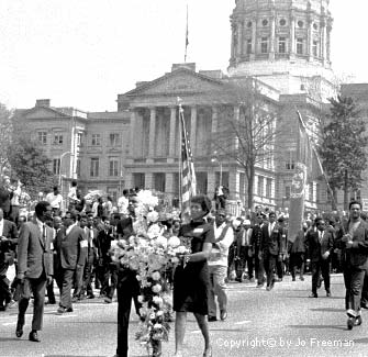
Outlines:
POLYGON ((334 236, 330 230, 326 230, 322 217, 314 221, 315 230, 308 232, 305 237, 305 248, 311 260, 312 270, 312 293, 310 298, 317 298, 319 279, 322 274, 326 295, 331 297, 330 289, 330 264, 334 250, 334 236))

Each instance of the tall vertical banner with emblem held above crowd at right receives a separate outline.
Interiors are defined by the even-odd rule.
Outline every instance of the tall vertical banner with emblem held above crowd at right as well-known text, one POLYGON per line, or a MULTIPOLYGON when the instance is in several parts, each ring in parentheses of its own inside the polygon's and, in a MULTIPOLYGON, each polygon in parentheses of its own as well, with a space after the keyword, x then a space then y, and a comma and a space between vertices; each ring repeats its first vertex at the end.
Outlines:
POLYGON ((304 192, 306 185, 306 166, 302 163, 295 164, 295 174, 291 181, 289 232, 288 239, 294 242, 304 216, 304 192))

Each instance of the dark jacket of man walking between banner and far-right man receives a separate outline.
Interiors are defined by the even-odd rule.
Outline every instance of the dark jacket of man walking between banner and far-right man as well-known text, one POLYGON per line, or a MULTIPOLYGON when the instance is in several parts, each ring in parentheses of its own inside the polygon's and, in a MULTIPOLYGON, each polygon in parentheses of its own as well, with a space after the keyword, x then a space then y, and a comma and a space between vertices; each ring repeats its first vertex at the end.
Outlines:
POLYGON ((323 232, 323 237, 321 242, 319 237, 319 231, 309 231, 305 237, 305 246, 308 257, 311 259, 311 261, 322 260, 323 254, 330 252, 331 255, 334 250, 334 236, 332 231, 325 230, 323 232))

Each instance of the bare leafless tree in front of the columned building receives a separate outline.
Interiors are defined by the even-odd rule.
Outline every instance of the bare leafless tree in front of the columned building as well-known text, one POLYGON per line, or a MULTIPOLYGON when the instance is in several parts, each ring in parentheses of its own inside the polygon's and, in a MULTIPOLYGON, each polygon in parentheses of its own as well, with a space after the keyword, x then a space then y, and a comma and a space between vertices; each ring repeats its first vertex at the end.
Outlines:
POLYGON ((218 155, 239 165, 247 180, 247 204, 254 205, 257 167, 271 170, 276 155, 276 120, 271 101, 261 94, 254 78, 243 78, 230 87, 219 111, 220 126, 212 138, 218 155), (234 113, 234 105, 238 111, 234 113))

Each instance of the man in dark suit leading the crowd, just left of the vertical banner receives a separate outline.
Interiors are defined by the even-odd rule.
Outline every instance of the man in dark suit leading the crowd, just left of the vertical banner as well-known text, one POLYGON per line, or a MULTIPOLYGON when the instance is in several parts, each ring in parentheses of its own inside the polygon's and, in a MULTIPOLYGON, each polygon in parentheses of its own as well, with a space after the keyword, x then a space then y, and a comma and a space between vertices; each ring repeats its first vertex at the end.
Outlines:
POLYGON ((264 259, 264 266, 267 276, 267 287, 266 290, 270 291, 275 285, 275 269, 276 263, 280 255, 280 244, 281 244, 281 230, 276 222, 275 212, 270 212, 268 215, 268 224, 265 224, 261 228, 263 239, 260 244, 260 252, 264 259))

